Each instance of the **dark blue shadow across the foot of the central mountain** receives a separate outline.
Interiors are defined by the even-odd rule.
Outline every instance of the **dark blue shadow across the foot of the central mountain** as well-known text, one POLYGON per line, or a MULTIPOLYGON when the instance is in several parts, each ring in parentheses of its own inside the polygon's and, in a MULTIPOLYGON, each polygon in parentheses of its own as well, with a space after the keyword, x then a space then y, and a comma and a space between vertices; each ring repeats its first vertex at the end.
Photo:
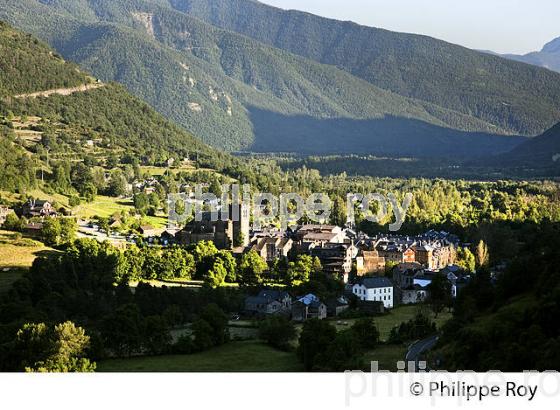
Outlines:
POLYGON ((507 152, 526 141, 525 137, 456 131, 393 116, 320 119, 256 107, 248 110, 255 134, 252 152, 469 158, 507 152))

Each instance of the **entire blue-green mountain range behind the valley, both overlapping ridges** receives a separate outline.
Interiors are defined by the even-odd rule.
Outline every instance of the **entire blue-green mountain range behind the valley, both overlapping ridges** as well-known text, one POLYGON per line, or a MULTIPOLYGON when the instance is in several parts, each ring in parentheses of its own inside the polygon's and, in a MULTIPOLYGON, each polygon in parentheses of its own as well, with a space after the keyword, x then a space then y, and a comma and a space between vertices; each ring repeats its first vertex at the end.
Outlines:
POLYGON ((484 156, 560 120, 560 74, 251 0, 7 0, 0 19, 226 151, 484 156))

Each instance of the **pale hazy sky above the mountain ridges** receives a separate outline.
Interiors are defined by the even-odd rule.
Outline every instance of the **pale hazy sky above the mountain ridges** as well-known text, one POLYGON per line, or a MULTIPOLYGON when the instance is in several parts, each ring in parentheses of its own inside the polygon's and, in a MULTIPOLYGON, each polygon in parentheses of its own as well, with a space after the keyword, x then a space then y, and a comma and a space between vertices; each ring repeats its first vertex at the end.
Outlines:
POLYGON ((500 53, 537 51, 560 37, 560 0, 260 1, 500 53))

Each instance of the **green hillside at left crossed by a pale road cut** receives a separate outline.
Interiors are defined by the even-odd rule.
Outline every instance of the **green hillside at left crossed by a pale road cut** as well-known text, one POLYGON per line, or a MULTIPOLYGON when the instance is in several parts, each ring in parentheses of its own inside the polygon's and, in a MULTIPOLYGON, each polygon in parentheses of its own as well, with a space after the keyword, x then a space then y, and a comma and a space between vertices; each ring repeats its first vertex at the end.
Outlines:
POLYGON ((0 71, 0 84, 8 85, 0 96, 0 189, 33 185, 41 162, 50 171, 57 160, 86 157, 162 164, 189 156, 206 167, 240 169, 239 161, 203 144, 121 85, 94 82, 46 45, 0 23, 0 64, 6 61, 15 62, 17 72, 0 71), (16 97, 65 86, 83 91, 16 97))

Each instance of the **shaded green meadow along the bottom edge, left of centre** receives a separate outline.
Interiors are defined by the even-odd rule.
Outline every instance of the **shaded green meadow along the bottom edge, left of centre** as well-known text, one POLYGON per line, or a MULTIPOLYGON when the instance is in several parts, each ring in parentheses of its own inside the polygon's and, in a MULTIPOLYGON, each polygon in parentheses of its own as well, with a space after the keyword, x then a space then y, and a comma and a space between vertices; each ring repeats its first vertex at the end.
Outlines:
POLYGON ((231 342, 192 355, 111 359, 97 363, 98 372, 299 372, 294 353, 255 341, 231 342))

